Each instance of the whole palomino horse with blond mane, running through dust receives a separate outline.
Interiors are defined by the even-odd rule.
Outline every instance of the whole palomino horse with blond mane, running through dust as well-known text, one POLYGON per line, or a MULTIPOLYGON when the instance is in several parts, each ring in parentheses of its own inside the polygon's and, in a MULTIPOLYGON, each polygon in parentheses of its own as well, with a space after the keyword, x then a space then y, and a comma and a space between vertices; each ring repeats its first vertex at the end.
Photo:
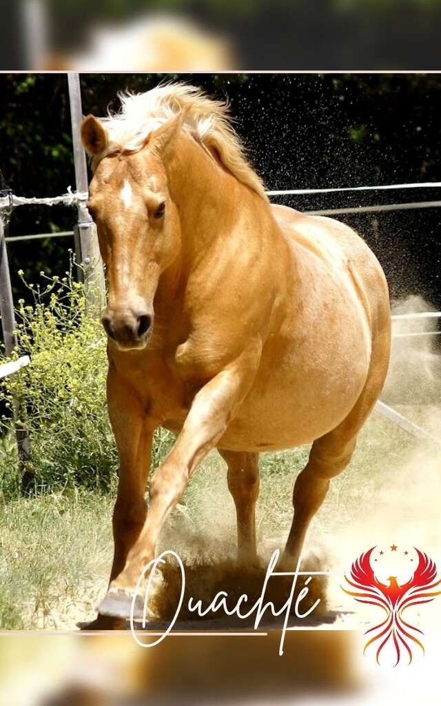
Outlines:
POLYGON ((82 137, 107 266, 107 400, 120 461, 100 614, 127 617, 164 520, 214 447, 246 561, 256 554, 259 453, 313 441, 283 556, 296 565, 382 389, 390 316, 382 269, 351 228, 270 205, 224 104, 182 84, 121 101, 119 114, 88 116, 82 137), (147 512, 158 426, 178 438, 152 477, 147 512))

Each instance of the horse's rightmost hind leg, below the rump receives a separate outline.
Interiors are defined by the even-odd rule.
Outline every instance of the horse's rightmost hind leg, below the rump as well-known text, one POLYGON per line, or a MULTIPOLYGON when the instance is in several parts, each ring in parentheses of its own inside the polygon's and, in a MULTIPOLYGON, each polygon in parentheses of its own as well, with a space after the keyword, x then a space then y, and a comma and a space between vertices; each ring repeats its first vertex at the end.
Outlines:
POLYGON ((330 479, 349 464, 358 431, 368 418, 382 390, 387 373, 389 337, 385 330, 381 345, 373 350, 366 384, 356 405, 335 429, 316 439, 306 467, 294 484, 294 520, 284 551, 285 566, 296 566, 308 526, 325 500, 330 479))

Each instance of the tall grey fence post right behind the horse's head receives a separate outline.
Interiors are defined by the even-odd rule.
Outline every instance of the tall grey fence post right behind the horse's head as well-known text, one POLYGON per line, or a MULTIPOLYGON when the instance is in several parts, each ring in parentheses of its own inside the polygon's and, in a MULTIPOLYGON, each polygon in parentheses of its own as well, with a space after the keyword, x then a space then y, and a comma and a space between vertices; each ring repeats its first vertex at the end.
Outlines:
MULTIPOLYGON (((81 193, 89 188, 87 162, 80 139, 80 127, 83 121, 81 106, 80 76, 68 73, 69 101, 71 103, 71 124, 73 140, 73 159, 75 162, 76 190, 81 193)), ((75 256, 80 265, 79 277, 85 283, 85 296, 91 309, 100 313, 105 301, 105 283, 102 261, 99 255, 97 227, 90 217, 85 203, 78 205, 78 223, 74 227, 75 256)))

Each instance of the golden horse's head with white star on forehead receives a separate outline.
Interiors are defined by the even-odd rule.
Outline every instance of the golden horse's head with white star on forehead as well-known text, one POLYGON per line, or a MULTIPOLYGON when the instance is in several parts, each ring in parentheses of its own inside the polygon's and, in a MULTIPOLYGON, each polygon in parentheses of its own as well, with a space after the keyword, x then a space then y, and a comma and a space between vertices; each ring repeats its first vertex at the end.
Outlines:
POLYGON ((179 252, 179 215, 163 156, 182 121, 181 114, 172 118, 135 152, 111 145, 105 126, 94 116, 85 118, 81 128, 85 150, 97 161, 88 207, 107 272, 102 323, 120 349, 147 345, 159 277, 179 252))

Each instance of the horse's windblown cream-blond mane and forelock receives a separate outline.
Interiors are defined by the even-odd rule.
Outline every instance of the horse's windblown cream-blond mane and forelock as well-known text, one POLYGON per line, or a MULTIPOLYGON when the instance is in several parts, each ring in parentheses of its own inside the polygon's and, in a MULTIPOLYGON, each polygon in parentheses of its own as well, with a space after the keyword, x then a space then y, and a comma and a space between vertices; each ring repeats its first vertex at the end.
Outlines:
POLYGON ((207 148, 239 181, 267 201, 261 179, 250 167, 241 140, 231 126, 226 102, 207 97, 200 88, 186 83, 168 83, 145 93, 118 94, 121 109, 102 118, 107 145, 95 155, 93 165, 116 151, 136 152, 143 148, 152 131, 186 110, 183 129, 207 148))

